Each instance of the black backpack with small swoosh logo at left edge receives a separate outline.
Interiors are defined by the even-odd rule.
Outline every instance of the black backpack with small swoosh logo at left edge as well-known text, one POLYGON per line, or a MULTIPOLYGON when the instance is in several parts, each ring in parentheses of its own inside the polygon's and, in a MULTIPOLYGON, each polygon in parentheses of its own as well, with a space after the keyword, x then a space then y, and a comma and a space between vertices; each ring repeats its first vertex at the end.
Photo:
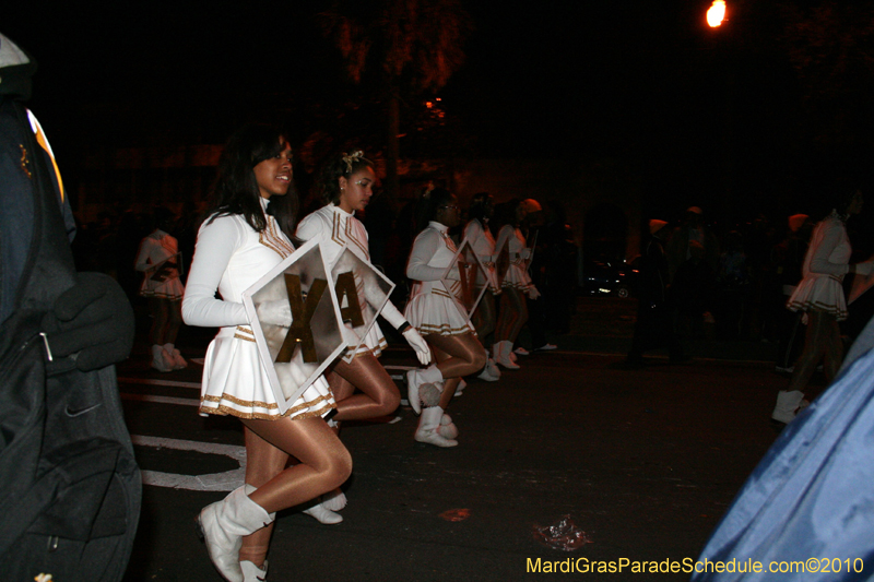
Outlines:
MULTIPOLYGON (((0 96, 0 115, 28 127, 17 102, 0 96)), ((42 154, 32 132, 22 135, 42 154)), ((0 577, 118 581, 139 522, 140 470, 115 367, 83 372, 74 358, 48 359, 42 322, 76 273, 52 177, 44 163, 32 170, 33 239, 0 329, 0 577)))

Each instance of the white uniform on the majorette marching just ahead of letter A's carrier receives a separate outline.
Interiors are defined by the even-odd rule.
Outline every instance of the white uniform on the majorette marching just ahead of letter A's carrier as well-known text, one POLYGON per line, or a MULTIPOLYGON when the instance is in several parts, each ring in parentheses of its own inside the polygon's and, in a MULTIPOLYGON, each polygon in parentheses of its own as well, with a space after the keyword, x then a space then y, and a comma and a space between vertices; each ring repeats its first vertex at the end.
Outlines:
POLYGON ((415 283, 404 314, 422 335, 475 333, 453 298, 453 295, 458 296, 460 293, 461 284, 453 281, 447 290, 440 282, 458 251, 448 230, 446 225, 429 222, 427 228, 413 241, 410 261, 406 263, 406 276, 415 283))

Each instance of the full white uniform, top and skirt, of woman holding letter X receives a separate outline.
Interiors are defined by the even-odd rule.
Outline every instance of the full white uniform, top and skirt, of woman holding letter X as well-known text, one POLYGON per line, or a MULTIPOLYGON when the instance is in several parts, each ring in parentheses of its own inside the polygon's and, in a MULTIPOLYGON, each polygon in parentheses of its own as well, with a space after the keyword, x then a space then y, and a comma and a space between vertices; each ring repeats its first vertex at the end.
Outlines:
MULTIPOLYGON (((267 206, 265 199, 261 206, 267 206)), ((241 215, 221 216, 204 222, 198 234, 182 313, 190 325, 222 328, 203 363, 200 414, 204 416, 281 416, 241 302, 243 292, 294 252, 275 219, 267 216, 267 229, 258 233, 241 215), (216 288, 222 299, 214 298, 216 288)), ((319 377, 282 416, 324 416, 335 406, 328 382, 319 377)))

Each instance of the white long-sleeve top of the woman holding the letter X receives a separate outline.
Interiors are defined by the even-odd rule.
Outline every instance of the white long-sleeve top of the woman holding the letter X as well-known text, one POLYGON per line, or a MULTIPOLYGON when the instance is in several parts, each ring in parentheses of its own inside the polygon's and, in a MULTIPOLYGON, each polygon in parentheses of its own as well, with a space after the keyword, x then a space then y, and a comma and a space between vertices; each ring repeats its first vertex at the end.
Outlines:
MULTIPOLYGON (((264 199, 261 206, 267 206, 264 199)), ((267 219, 263 233, 238 214, 206 221, 200 227, 182 299, 182 320, 188 325, 249 324, 243 292, 294 252, 276 221, 272 216, 267 219), (221 299, 215 298, 216 290, 221 299)))

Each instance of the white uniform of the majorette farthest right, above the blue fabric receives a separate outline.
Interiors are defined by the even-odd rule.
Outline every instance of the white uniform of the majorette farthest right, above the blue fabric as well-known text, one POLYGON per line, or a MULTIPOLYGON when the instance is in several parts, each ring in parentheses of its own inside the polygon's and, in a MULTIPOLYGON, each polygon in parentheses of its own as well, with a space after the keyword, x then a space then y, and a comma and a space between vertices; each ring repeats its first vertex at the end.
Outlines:
POLYGON ((838 321, 847 319, 843 275, 850 270, 850 239, 843 221, 832 211, 814 228, 811 246, 802 265, 803 278, 787 301, 792 311, 816 309, 838 321))

